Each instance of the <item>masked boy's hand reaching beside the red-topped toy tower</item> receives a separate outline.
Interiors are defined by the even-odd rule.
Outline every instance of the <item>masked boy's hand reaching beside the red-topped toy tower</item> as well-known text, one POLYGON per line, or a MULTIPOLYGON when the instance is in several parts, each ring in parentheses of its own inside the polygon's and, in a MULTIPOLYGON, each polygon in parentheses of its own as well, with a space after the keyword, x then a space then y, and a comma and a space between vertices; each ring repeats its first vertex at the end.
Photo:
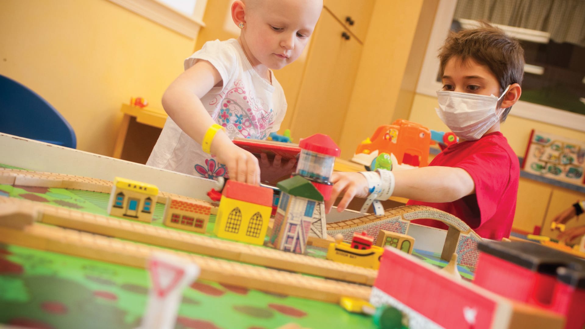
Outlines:
POLYGON ((339 212, 347 208, 347 205, 352 201, 353 197, 365 198, 369 194, 366 177, 360 173, 334 172, 331 175, 331 183, 333 183, 333 190, 331 192, 331 198, 325 201, 325 214, 329 214, 333 203, 335 203, 340 193, 345 194, 337 205, 337 211, 339 212))

